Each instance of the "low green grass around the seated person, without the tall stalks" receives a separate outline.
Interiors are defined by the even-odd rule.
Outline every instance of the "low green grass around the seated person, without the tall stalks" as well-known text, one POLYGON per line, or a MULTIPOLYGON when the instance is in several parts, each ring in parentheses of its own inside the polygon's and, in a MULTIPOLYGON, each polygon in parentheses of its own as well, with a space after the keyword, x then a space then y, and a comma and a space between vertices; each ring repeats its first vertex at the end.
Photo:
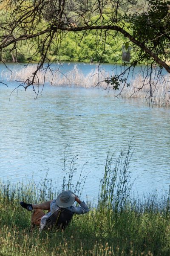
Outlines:
MULTIPOLYGON (((91 207, 85 215, 74 215, 64 233, 35 230, 31 234, 31 213, 19 201, 30 202, 32 196, 37 202, 38 189, 24 187, 23 197, 20 190, 11 187, 11 191, 14 193, 8 194, 1 184, 0 255, 170 255, 170 214, 164 208, 165 198, 160 205, 129 201, 121 212, 91 207)), ((45 192, 48 200, 48 189, 45 192)))

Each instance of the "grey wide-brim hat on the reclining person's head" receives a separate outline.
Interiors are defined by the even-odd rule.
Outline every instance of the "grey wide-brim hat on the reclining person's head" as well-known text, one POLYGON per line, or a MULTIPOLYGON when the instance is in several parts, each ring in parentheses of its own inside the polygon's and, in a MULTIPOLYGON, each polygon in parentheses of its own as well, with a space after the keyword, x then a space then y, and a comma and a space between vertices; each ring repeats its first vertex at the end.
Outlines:
POLYGON ((74 204, 76 195, 70 190, 65 190, 57 196, 56 204, 59 207, 67 208, 74 204))

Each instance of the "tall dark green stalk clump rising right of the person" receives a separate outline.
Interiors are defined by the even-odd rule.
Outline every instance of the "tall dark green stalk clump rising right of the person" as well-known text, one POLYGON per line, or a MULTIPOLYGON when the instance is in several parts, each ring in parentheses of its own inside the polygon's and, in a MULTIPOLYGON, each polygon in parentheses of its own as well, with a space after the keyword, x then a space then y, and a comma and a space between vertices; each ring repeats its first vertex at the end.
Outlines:
POLYGON ((100 183, 98 209, 112 209, 115 212, 126 209, 133 186, 128 170, 133 149, 134 146, 130 140, 127 150, 122 150, 116 159, 113 159, 114 154, 108 151, 105 173, 100 183))

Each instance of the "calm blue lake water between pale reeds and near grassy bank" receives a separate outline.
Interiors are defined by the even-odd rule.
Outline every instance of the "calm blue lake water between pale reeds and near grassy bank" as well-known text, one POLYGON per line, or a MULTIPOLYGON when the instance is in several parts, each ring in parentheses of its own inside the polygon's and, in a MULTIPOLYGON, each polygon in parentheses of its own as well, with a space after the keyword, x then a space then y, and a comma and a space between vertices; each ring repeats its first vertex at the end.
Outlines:
MULTIPOLYGON (((71 64, 73 67, 73 64, 71 64)), ((65 69, 71 65, 65 64, 65 69)), ((90 65, 79 65, 90 72, 90 65)), ((111 69, 111 65, 107 65, 111 69)), ((2 69, 2 67, 1 67, 2 69)), ((34 100, 31 89, 13 93, 15 82, 0 85, 0 179, 62 183, 63 151, 68 165, 77 155, 79 178, 87 175, 84 195, 97 197, 107 151, 119 153, 134 136, 129 169, 137 195, 168 189, 170 184, 170 109, 119 100, 101 89, 45 86, 34 100)))

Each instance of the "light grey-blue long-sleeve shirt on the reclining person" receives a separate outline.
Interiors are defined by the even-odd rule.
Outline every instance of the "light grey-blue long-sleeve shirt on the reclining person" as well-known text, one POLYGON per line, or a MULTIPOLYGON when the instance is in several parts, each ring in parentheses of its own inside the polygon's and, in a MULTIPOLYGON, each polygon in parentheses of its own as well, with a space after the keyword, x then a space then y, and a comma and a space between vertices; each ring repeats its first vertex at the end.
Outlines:
MULTIPOLYGON (((68 209, 71 212, 74 212, 76 214, 83 214, 86 212, 89 212, 90 209, 88 208, 88 206, 85 204, 85 202, 81 202, 81 204, 79 204, 80 206, 70 206, 67 207, 65 209, 68 209)), ((54 212, 56 212, 59 209, 58 205, 56 204, 56 200, 52 200, 50 203, 50 212, 48 212, 47 214, 45 214, 42 218, 41 218, 41 223, 40 223, 40 231, 42 231, 42 229, 45 227, 46 225, 46 219, 48 217, 50 217, 54 212)))

